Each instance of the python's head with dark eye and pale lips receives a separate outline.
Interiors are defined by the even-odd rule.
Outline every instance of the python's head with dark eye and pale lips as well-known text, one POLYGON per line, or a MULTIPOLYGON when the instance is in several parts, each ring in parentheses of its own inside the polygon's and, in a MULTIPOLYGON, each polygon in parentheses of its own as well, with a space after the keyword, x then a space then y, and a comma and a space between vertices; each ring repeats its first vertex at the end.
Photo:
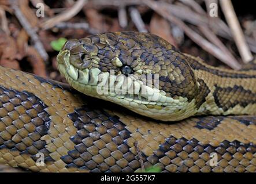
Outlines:
POLYGON ((177 121, 196 113, 199 88, 190 65, 153 34, 116 32, 68 40, 57 63, 76 90, 143 116, 177 121))

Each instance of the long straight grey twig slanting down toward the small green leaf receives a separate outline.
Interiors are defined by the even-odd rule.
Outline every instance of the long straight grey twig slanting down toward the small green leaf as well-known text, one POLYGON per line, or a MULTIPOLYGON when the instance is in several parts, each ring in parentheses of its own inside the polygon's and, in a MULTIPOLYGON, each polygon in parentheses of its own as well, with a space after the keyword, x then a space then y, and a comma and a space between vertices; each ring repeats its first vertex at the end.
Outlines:
POLYGON ((20 21, 20 24, 26 30, 28 35, 31 37, 31 40, 34 43, 34 47, 36 48, 40 56, 43 58, 44 61, 47 61, 49 59, 49 56, 46 50, 44 49, 43 44, 41 43, 38 37, 38 34, 36 34, 35 29, 32 28, 28 20, 23 16, 23 13, 21 12, 20 8, 16 5, 16 2, 15 1, 11 1, 11 2, 12 2, 12 9, 14 10, 14 14, 17 17, 18 21, 20 21))

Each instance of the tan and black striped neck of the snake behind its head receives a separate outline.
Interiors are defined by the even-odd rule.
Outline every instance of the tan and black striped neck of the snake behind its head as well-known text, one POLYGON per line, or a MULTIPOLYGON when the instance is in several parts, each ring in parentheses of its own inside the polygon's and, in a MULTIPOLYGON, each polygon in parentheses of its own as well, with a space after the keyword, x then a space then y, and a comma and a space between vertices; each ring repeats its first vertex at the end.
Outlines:
POLYGON ((199 57, 187 55, 187 61, 198 82, 195 97, 196 115, 256 114, 255 61, 235 71, 217 68, 199 57), (251 67, 253 66, 253 67, 251 67))

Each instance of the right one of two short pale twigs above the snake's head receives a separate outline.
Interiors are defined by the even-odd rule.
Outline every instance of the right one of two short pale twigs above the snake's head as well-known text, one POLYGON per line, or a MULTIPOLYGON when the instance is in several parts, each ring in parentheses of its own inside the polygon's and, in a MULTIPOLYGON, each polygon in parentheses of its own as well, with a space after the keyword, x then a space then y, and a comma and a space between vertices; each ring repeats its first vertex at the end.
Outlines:
POLYGON ((135 24, 139 32, 147 32, 146 26, 142 20, 142 17, 140 16, 139 11, 135 7, 130 7, 129 12, 132 22, 135 24))

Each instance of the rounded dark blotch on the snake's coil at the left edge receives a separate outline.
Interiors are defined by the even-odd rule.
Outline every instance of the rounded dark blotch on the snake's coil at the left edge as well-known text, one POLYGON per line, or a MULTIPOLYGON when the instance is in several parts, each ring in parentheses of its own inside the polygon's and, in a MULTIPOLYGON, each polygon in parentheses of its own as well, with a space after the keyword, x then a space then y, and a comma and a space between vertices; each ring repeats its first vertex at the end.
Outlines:
POLYGON ((12 153, 12 151, 19 151, 20 155, 30 155, 35 161, 38 159, 36 158, 36 154, 42 152, 46 162, 52 161, 53 159, 49 156, 50 152, 44 147, 46 142, 40 140, 42 136, 47 134, 50 126, 49 114, 44 111, 47 106, 43 104, 42 100, 27 91, 6 89, 0 86, 0 104, 0 116, 2 117, 0 124, 6 127, 5 130, 0 132, 0 149, 8 148, 10 153, 12 153), (5 119, 11 120, 10 118, 12 118, 12 115, 3 113, 5 110, 9 110, 11 113, 21 107, 26 110, 24 114, 20 114, 20 118, 12 121, 4 121, 5 119), (35 112, 37 112, 36 117, 35 112), (26 116, 31 118, 29 122, 24 122, 21 119, 21 117, 26 116), (12 129, 16 131, 12 131, 12 129), (5 132, 10 133, 11 137, 9 140, 5 140, 3 136, 5 132), (25 135, 27 132, 27 137, 22 138, 22 136, 20 136, 25 135))

